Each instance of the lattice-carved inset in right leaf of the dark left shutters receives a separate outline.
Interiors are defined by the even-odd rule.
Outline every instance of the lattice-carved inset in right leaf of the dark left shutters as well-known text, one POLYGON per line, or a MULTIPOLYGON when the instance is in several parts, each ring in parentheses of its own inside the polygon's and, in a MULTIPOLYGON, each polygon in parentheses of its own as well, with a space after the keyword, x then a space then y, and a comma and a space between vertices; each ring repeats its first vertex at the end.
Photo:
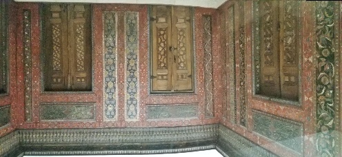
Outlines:
POLYGON ((77 71, 84 71, 84 25, 76 25, 76 61, 77 71))

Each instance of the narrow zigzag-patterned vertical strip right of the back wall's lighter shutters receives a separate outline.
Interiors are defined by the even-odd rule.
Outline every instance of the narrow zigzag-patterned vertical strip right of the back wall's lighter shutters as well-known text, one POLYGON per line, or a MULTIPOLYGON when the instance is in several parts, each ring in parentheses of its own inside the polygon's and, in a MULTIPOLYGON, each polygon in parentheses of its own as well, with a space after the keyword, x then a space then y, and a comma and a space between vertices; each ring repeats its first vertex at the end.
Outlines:
POLYGON ((205 83, 205 117, 214 116, 212 81, 212 17, 203 15, 203 54, 205 83))

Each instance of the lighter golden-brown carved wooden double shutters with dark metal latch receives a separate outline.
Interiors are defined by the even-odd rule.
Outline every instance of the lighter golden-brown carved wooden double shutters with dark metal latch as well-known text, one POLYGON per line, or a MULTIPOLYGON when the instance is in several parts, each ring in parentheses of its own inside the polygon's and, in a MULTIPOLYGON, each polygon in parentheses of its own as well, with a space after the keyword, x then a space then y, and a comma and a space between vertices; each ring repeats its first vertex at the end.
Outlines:
POLYGON ((192 90, 190 8, 152 8, 152 91, 192 90))

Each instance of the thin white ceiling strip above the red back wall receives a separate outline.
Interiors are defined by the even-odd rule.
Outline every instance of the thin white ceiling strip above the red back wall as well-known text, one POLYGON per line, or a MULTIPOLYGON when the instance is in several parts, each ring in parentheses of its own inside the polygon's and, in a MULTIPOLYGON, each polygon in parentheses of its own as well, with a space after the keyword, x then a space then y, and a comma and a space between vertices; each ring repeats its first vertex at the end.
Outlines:
POLYGON ((197 6, 218 8, 227 0, 14 0, 23 2, 72 2, 72 3, 131 3, 131 4, 164 4, 175 6, 197 6))

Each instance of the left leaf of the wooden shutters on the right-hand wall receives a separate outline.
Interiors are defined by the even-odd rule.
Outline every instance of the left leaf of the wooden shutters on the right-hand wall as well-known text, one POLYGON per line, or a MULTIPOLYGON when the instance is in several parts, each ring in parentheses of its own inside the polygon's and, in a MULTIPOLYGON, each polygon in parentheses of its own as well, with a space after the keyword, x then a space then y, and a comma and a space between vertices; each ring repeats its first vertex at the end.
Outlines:
POLYGON ((280 96, 279 85, 279 1, 261 1, 261 93, 280 96))

